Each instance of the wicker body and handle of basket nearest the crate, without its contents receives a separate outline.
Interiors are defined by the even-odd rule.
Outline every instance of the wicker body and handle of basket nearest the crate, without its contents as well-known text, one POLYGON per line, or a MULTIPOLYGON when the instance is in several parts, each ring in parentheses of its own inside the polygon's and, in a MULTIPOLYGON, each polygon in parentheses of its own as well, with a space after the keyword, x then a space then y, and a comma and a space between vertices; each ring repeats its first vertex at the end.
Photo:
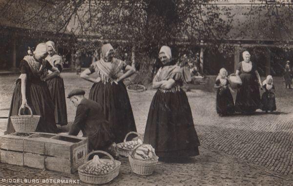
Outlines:
POLYGON ((112 160, 112 162, 114 164, 114 169, 112 169, 111 171, 109 171, 105 174, 97 174, 97 175, 81 172, 81 170, 83 170, 87 165, 89 165, 92 162, 92 160, 89 160, 84 165, 82 165, 78 168, 78 174, 80 176, 81 181, 83 181, 85 183, 89 183, 89 184, 106 184, 106 183, 112 181, 114 178, 116 178, 119 174, 121 162, 114 160, 110 154, 108 154, 107 152, 102 151, 102 150, 95 150, 95 151, 90 152, 86 156, 86 160, 88 160, 88 157, 94 153, 102 153, 102 154, 107 155, 112 160))

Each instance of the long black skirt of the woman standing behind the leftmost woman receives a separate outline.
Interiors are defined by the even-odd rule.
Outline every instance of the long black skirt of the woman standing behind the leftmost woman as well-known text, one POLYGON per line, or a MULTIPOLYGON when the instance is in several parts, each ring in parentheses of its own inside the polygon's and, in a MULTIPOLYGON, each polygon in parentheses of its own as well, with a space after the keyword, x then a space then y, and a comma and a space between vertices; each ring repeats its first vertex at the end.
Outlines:
POLYGON ((67 125, 67 110, 63 78, 54 77, 47 81, 52 100, 55 104, 55 123, 61 126, 67 125))

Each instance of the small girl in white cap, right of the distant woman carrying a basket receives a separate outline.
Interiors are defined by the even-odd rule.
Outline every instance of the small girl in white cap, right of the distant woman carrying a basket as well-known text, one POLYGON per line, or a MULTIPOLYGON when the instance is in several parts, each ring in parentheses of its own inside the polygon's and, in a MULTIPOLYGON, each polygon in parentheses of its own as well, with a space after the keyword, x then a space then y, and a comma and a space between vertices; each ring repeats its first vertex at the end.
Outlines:
POLYGON ((273 93, 275 88, 272 84, 272 75, 268 75, 267 79, 264 80, 263 88, 265 89, 265 92, 261 96, 261 110, 273 112, 276 110, 276 100, 273 93))

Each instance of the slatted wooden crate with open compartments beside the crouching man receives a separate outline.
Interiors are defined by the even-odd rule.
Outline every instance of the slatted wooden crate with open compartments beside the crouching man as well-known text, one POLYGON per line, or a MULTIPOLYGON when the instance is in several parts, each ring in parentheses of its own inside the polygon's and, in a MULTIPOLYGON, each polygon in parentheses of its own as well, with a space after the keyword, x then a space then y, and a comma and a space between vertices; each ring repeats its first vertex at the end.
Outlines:
POLYGON ((84 163, 88 141, 84 137, 30 132, 0 137, 0 162, 73 173, 84 163))

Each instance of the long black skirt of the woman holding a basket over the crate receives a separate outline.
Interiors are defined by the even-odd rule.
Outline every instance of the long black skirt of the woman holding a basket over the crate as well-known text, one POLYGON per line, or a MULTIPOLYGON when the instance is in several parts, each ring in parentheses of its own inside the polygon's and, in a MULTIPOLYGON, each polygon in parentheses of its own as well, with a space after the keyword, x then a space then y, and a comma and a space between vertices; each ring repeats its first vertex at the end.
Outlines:
MULTIPOLYGON (((57 133, 57 126, 55 124, 54 118, 55 105, 52 102, 47 84, 45 82, 33 84, 27 81, 26 100, 27 104, 32 109, 33 114, 41 115, 36 131, 57 133)), ((16 86, 12 95, 9 117, 12 115, 18 115, 19 108, 21 107, 21 102, 21 79, 18 79, 16 81, 16 86)), ((24 114, 29 114, 29 111, 27 111, 26 109, 24 114)), ((9 134, 12 132, 15 132, 15 130, 9 118, 7 124, 7 133, 9 134)))

